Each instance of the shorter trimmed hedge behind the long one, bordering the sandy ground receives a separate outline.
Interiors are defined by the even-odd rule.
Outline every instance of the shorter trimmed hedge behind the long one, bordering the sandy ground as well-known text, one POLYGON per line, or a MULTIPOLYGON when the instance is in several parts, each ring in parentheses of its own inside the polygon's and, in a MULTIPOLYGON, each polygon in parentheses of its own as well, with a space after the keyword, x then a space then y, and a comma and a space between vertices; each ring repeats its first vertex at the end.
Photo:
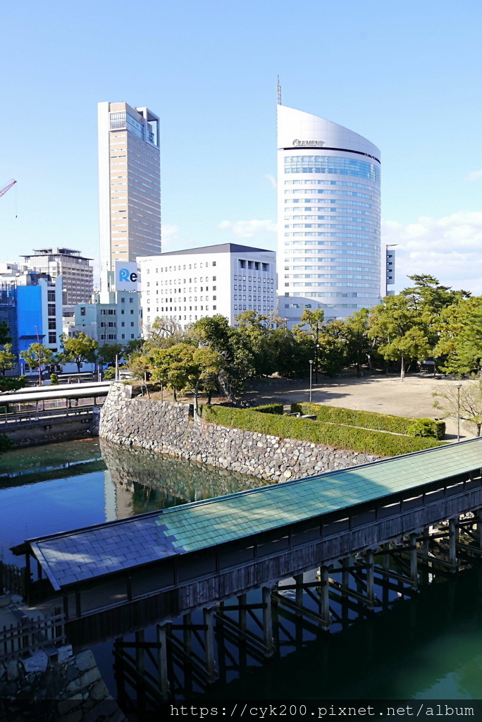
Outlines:
POLYGON ((434 421, 434 419, 408 419, 403 416, 377 414, 372 411, 354 411, 353 409, 340 409, 338 406, 304 403, 292 404, 292 412, 300 414, 316 414, 317 421, 332 422, 333 424, 346 424, 348 426, 361 426, 365 429, 390 431, 395 434, 409 434, 409 427, 417 421, 425 421, 429 423, 436 439, 442 440, 445 435, 445 422, 434 421))

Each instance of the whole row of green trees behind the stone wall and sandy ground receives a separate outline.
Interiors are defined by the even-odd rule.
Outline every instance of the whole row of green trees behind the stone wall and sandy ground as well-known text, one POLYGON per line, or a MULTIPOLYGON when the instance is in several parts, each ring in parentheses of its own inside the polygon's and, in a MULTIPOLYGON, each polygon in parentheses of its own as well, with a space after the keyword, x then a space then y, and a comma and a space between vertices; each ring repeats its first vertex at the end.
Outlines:
POLYGON ((325 321, 322 309, 304 309, 301 322, 288 329, 279 316, 254 310, 236 316, 201 318, 182 329, 157 318, 141 349, 128 360, 137 378, 176 391, 221 392, 237 401, 248 380, 277 373, 304 378, 312 371, 337 375, 346 367, 389 370, 398 365, 403 380, 409 368, 431 360, 434 369, 456 375, 478 373, 482 361, 482 297, 439 283, 426 275, 409 277, 410 287, 362 308, 344 320, 325 321))

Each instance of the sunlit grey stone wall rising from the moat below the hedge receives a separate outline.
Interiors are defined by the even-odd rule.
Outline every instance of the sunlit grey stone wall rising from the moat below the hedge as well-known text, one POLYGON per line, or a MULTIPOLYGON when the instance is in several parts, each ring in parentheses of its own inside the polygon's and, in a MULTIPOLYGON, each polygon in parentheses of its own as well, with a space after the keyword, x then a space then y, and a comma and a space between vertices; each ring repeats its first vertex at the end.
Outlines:
POLYGON ((114 383, 102 407, 99 435, 113 443, 240 471, 269 482, 376 461, 376 456, 193 420, 190 404, 132 398, 114 383))

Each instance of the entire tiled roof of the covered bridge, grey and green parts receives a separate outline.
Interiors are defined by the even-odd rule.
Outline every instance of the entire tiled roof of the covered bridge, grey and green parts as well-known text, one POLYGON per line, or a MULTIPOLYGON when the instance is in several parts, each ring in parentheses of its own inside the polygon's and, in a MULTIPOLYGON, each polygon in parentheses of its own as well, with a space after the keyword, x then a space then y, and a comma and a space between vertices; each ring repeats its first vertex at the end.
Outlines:
POLYGON ((482 438, 30 539, 54 589, 389 497, 482 466, 482 438))

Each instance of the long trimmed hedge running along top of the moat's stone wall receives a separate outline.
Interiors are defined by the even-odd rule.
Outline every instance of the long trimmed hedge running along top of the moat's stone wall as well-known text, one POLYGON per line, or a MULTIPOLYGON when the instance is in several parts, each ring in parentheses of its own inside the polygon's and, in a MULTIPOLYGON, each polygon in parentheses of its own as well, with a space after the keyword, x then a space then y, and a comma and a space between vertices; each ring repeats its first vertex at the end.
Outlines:
POLYGON ((255 409, 204 405, 201 415, 206 421, 220 426, 230 426, 280 438, 299 439, 375 456, 398 456, 442 445, 435 439, 395 436, 380 431, 338 426, 310 419, 264 414, 255 409))

